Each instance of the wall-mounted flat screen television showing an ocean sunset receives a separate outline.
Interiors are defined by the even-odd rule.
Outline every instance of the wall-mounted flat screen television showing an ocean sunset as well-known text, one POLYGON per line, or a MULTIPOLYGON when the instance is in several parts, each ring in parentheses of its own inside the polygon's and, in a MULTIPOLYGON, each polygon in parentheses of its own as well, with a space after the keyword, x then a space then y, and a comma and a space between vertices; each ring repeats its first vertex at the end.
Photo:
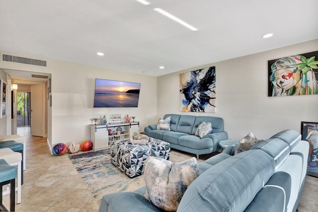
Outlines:
POLYGON ((95 79, 94 107, 138 107, 140 83, 95 79))

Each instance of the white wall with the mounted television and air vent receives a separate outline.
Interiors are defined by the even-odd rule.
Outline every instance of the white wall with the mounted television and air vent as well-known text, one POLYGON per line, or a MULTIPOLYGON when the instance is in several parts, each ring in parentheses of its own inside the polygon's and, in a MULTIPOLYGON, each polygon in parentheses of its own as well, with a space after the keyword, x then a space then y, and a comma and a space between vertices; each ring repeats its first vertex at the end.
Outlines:
MULTIPOLYGON (((22 57, 46 60, 31 56, 22 57)), ((1 62, 0 69, 52 74, 52 108, 48 108, 48 143, 51 147, 59 142, 80 142, 90 139, 88 125, 93 124, 93 118, 129 114, 136 116, 135 121, 141 122, 140 129, 143 130, 150 123, 150 117, 157 115, 157 77, 61 61, 46 61, 46 68, 1 62), (141 83, 138 108, 93 108, 95 78, 141 83)))

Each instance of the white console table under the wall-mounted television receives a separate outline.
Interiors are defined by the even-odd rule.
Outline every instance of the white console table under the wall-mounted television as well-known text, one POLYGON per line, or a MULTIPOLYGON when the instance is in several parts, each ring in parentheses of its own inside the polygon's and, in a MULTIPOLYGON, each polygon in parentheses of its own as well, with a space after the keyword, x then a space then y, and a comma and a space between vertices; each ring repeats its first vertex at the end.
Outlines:
POLYGON ((130 123, 114 123, 114 124, 92 124, 90 127, 90 141, 93 143, 93 150, 103 149, 108 147, 108 142, 117 141, 120 139, 128 139, 134 135, 134 132, 139 131, 139 122, 130 123), (116 128, 122 127, 127 133, 120 135, 108 135, 108 130, 116 131, 116 128))

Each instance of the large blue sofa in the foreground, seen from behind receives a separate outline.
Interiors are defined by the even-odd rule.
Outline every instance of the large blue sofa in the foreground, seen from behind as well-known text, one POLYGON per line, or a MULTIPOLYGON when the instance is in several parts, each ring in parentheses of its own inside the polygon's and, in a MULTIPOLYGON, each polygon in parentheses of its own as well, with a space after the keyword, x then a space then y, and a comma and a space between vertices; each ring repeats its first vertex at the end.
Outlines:
MULTIPOLYGON (((282 131, 236 154, 229 146, 199 163, 200 176, 185 191, 177 212, 295 212, 303 191, 309 143, 282 131)), ((136 192, 105 195, 99 212, 159 212, 136 192)))

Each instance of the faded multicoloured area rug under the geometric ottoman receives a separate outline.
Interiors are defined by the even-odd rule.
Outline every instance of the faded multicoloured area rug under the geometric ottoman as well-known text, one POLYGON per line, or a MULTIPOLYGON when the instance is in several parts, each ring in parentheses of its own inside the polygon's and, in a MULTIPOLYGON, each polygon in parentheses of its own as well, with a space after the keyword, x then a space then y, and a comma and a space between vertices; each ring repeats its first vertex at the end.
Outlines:
POLYGON ((98 205, 106 194, 136 191, 145 186, 143 175, 129 178, 111 163, 109 149, 73 154, 69 158, 98 205))

